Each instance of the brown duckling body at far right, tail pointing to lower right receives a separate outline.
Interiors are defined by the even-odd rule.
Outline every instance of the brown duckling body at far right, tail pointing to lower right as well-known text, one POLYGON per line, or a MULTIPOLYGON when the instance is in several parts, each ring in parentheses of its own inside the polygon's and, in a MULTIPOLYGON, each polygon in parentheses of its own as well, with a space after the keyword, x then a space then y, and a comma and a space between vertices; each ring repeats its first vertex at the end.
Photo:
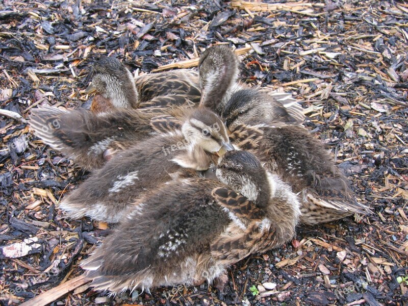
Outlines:
POLYGON ((253 152, 269 171, 299 193, 301 223, 316 224, 354 213, 371 213, 370 208, 356 200, 327 150, 303 127, 236 125, 236 120, 230 118, 226 122, 230 123, 228 129, 232 127, 230 137, 235 145, 253 152))

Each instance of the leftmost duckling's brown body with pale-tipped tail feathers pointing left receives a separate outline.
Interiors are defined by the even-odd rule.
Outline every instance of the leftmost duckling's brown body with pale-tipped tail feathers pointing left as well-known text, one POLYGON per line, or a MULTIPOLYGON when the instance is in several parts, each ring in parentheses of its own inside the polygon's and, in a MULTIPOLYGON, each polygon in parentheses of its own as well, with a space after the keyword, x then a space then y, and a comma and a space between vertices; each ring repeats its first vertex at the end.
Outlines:
POLYGON ((189 107, 173 106, 114 109, 95 114, 84 109, 67 111, 43 107, 32 110, 30 126, 46 144, 79 166, 94 170, 102 167, 118 150, 148 137, 181 129, 191 111, 189 107))

